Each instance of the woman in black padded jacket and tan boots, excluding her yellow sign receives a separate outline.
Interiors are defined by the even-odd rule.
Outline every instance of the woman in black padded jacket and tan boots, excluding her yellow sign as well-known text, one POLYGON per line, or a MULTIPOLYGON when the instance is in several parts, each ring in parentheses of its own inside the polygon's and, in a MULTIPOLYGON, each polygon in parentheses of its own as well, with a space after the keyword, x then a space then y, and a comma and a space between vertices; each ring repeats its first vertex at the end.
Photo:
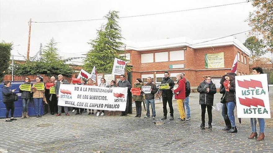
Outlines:
MULTIPOLYGON (((29 77, 25 78, 25 83, 23 84, 30 84, 30 79, 29 77)), ((20 85, 21 86, 21 85, 20 85)), ((20 88, 20 87, 19 87, 20 88)), ((30 89, 30 88, 29 88, 30 89)), ((28 110, 29 110, 29 102, 31 101, 31 95, 30 95, 30 91, 23 91, 23 90, 19 90, 22 94, 21 94, 21 98, 22 98, 22 119, 29 118, 28 115, 28 110)))

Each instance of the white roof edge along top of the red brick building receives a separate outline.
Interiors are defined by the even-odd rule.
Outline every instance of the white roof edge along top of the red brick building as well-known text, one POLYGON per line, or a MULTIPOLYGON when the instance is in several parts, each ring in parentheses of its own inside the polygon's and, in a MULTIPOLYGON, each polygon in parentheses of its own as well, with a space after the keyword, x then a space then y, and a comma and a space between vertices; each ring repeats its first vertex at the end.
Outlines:
POLYGON ((225 38, 208 38, 208 39, 199 39, 192 40, 188 37, 178 37, 178 38, 167 38, 161 40, 152 40, 145 42, 132 42, 126 41, 126 49, 133 49, 137 51, 145 51, 145 50, 154 50, 154 49, 165 49, 165 48, 173 48, 173 47, 186 47, 189 46, 193 49, 198 48, 207 48, 207 47, 218 47, 218 46, 228 46, 234 45, 248 56, 250 55, 250 51, 241 43, 238 39, 233 36, 228 36, 225 38))

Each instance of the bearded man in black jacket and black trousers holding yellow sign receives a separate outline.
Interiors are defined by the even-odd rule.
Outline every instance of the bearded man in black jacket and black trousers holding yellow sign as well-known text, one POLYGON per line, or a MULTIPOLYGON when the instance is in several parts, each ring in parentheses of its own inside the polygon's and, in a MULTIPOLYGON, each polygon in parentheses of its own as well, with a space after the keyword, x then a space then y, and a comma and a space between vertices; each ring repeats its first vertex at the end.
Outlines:
MULTIPOLYGON (((162 101, 163 101, 163 118, 162 120, 167 119, 167 101, 170 108, 170 120, 173 120, 173 108, 172 108, 172 88, 175 85, 173 80, 169 77, 169 72, 164 72, 164 80, 162 80, 161 84, 168 83, 168 89, 161 89, 162 90, 162 101)), ((159 86, 160 89, 160 86, 159 86)))

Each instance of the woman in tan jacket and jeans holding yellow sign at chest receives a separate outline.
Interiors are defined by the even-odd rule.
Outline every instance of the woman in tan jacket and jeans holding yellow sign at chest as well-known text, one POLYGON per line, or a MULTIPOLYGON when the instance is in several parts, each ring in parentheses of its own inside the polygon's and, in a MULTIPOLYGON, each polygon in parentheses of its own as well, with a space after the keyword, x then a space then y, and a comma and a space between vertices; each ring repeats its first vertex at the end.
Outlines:
POLYGON ((42 117, 42 107, 43 107, 43 95, 45 88, 43 83, 41 83, 41 78, 37 77, 36 83, 31 87, 33 92, 33 100, 35 103, 36 117, 42 117))

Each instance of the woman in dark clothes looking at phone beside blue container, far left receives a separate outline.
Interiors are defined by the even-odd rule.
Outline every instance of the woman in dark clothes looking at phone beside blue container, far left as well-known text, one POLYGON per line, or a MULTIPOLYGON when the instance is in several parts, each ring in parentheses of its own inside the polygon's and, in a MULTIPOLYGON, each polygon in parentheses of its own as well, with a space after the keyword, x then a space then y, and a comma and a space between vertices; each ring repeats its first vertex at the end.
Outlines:
POLYGON ((15 89, 11 90, 10 86, 11 86, 11 82, 10 81, 5 81, 4 82, 4 87, 2 87, 3 103, 6 105, 6 122, 17 120, 16 118, 13 118, 13 113, 14 113, 14 96, 13 96, 13 92, 15 91, 15 89), (8 118, 10 110, 11 110, 11 118, 8 118))

